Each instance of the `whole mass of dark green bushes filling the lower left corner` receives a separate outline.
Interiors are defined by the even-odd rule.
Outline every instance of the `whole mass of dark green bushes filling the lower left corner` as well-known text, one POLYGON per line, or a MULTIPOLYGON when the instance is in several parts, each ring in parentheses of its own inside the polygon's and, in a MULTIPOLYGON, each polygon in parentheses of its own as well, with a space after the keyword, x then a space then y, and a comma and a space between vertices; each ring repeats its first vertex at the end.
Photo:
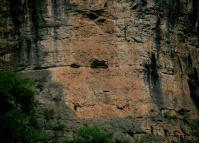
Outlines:
POLYGON ((35 117, 34 83, 19 73, 0 72, 0 142, 46 142, 35 117))

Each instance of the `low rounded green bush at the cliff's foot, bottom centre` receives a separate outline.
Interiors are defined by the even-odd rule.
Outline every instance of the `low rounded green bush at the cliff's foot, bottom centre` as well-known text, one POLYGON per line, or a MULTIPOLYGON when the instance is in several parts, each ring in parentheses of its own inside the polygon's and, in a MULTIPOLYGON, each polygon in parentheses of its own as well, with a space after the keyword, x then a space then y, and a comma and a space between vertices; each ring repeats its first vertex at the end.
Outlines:
POLYGON ((113 143, 113 134, 95 126, 84 126, 74 134, 75 143, 113 143))

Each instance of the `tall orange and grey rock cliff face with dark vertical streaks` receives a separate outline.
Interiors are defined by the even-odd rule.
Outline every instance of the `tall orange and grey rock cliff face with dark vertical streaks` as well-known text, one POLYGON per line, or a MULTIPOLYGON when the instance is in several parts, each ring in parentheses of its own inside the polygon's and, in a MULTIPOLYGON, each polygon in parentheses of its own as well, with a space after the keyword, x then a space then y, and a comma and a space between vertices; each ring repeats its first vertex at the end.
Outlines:
POLYGON ((66 125, 58 136, 94 123, 132 138, 195 139, 197 0, 0 2, 1 68, 38 82, 51 122, 66 125))

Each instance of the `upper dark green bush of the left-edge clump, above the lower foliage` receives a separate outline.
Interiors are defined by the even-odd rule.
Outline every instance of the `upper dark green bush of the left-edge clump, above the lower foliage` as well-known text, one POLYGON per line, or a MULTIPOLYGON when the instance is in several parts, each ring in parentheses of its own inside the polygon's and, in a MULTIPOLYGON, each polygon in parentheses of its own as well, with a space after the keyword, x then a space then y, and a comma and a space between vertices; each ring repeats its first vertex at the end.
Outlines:
POLYGON ((19 73, 0 72, 1 112, 20 108, 25 113, 34 111, 34 83, 19 73))

